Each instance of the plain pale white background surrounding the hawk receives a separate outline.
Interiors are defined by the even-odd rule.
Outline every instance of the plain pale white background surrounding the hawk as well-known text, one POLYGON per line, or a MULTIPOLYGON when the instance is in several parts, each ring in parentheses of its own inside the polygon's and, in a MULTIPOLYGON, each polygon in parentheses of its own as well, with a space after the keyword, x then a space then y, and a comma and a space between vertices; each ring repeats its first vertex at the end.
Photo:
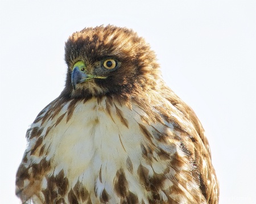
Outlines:
POLYGON ((84 27, 133 28, 208 135, 220 203, 256 203, 256 1, 1 1, 0 202, 19 203, 26 130, 64 87, 64 42, 84 27))

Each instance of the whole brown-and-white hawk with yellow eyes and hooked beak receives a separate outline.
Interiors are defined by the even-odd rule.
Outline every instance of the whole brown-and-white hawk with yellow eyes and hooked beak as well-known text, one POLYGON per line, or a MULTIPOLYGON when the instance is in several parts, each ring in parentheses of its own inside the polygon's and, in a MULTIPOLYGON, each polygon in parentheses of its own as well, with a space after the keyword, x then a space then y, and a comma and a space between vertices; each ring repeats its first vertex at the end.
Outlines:
POLYGON ((65 62, 64 90, 27 130, 23 203, 218 203, 204 129, 142 37, 84 28, 65 62))

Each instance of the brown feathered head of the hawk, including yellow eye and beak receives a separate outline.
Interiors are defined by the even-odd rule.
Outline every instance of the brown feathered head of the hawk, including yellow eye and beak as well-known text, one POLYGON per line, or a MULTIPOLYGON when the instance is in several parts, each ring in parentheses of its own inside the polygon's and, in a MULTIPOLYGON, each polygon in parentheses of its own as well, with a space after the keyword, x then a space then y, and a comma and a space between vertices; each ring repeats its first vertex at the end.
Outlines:
POLYGON ((65 61, 62 94, 77 99, 153 88, 160 75, 150 45, 131 29, 113 25, 73 33, 65 43, 65 61))

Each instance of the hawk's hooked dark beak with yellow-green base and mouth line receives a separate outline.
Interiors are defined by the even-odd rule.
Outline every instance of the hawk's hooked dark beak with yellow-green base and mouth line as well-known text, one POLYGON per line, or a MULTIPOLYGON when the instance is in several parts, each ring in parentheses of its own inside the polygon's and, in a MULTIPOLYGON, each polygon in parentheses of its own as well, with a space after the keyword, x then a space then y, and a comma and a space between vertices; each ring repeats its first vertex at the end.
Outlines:
POLYGON ((98 78, 98 79, 106 79, 105 76, 93 76, 93 75, 88 75, 84 72, 82 72, 78 66, 76 66, 73 71, 72 71, 72 86, 73 89, 76 90, 76 85, 82 82, 86 82, 86 80, 92 79, 92 78, 98 78))

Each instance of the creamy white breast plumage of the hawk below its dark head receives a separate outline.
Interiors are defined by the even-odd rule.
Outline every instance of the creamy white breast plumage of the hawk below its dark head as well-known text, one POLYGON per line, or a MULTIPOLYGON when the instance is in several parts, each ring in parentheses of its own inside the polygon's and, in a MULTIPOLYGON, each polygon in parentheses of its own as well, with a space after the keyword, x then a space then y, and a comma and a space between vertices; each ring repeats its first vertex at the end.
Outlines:
MULTIPOLYGON (((166 171, 166 164, 157 159, 159 156, 153 150, 151 142, 156 139, 151 135, 152 124, 146 122, 147 114, 136 104, 131 107, 107 97, 102 100, 92 98, 86 103, 69 101, 58 113, 51 113, 55 117, 47 116, 47 122, 33 124, 42 126, 44 122, 44 130, 48 130, 42 133, 46 159, 51 159, 54 167, 48 174, 57 177, 64 173, 69 188, 75 188, 79 183, 96 197, 102 196, 105 190, 113 202, 117 202, 118 189, 113 188, 113 182, 118 183, 121 172, 129 181, 130 192, 136 192, 138 199, 144 199, 145 189, 138 182, 139 176, 143 177, 142 171, 148 176, 160 175, 166 171)), ((46 113, 47 109, 43 114, 46 113)), ((172 130, 173 126, 169 126, 165 127, 166 131, 172 130)), ((163 130, 163 124, 155 122, 154 129, 163 130)), ((176 148, 168 147, 168 151, 175 152, 176 148)), ((46 178, 42 186, 47 186, 46 178)))

